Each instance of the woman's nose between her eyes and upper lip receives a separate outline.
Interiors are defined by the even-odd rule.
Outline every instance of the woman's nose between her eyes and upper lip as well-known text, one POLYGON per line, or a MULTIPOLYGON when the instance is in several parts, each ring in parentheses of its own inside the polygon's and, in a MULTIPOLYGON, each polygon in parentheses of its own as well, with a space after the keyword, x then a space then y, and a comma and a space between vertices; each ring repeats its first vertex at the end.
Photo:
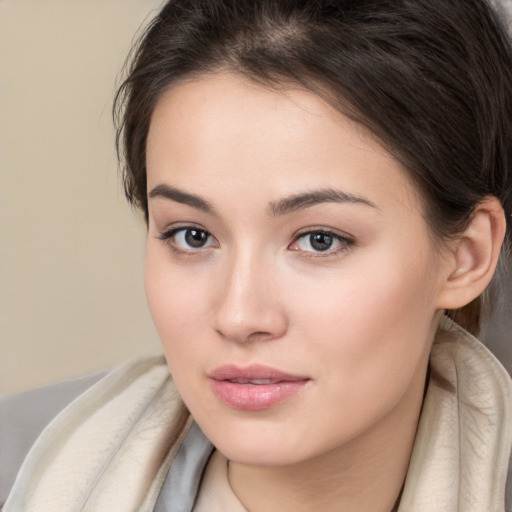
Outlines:
POLYGON ((288 328, 275 263, 246 252, 219 275, 215 327, 224 339, 246 343, 282 337, 288 328))

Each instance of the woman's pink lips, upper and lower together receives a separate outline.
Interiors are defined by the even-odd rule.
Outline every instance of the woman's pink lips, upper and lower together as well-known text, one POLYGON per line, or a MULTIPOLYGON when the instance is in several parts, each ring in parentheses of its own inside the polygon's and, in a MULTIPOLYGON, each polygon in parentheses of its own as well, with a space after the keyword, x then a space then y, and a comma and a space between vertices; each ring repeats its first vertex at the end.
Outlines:
POLYGON ((269 409, 301 391, 308 377, 262 365, 220 366, 208 377, 215 395, 233 409, 269 409))

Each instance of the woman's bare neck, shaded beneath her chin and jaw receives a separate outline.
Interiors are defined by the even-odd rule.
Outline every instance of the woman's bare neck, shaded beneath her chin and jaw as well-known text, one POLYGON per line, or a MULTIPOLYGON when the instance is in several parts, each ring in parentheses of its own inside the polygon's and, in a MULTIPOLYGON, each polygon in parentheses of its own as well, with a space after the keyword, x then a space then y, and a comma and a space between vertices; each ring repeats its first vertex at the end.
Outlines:
POLYGON ((423 395, 424 378, 413 383, 377 425, 313 459, 277 467, 230 462, 233 492, 250 512, 393 511, 407 473, 423 395))

